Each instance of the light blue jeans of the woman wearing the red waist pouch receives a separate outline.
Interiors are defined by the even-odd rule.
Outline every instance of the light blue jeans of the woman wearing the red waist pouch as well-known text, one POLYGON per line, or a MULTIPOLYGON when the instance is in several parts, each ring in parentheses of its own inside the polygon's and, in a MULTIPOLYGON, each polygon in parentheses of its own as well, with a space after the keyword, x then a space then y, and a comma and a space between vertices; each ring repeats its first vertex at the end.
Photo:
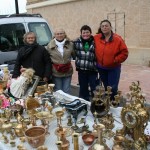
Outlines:
POLYGON ((71 85, 71 78, 69 77, 54 77, 53 76, 53 82, 55 84, 55 91, 62 90, 65 93, 70 92, 70 85, 71 85))

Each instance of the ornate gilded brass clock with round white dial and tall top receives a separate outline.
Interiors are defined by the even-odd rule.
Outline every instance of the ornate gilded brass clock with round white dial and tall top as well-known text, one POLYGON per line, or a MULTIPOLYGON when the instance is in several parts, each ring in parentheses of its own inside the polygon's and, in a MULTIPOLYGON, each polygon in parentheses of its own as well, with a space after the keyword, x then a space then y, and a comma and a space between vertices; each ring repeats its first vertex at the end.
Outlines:
POLYGON ((140 150, 146 148, 144 130, 148 124, 149 114, 144 106, 144 97, 140 94, 138 86, 139 83, 138 85, 134 84, 134 90, 131 92, 131 103, 122 108, 123 128, 121 131, 125 137, 128 136, 132 139, 134 148, 140 150), (138 89, 138 92, 135 89, 138 89))

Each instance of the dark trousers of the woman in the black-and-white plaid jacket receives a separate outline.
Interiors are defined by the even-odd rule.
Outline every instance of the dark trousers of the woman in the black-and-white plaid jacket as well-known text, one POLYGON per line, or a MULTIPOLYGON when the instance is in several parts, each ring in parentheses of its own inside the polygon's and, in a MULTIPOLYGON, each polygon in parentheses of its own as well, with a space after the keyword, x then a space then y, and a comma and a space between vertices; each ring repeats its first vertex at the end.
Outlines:
POLYGON ((90 99, 89 87, 91 90, 92 97, 94 96, 93 91, 95 90, 97 83, 97 72, 92 71, 78 71, 78 80, 80 85, 79 97, 87 101, 90 99))

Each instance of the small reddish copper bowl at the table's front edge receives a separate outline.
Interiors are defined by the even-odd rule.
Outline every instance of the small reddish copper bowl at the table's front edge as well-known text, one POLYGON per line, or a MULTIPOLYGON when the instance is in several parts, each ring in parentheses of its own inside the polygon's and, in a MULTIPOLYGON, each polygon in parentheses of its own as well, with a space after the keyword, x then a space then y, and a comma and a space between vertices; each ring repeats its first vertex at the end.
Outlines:
POLYGON ((95 136, 92 134, 85 134, 82 136, 82 140, 86 145, 92 145, 95 140, 95 136))

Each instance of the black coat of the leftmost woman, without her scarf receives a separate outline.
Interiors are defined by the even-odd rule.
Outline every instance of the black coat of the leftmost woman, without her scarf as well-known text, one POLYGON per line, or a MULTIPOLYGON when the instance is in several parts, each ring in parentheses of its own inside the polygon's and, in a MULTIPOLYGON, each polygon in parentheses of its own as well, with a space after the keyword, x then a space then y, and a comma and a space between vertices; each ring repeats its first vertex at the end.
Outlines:
POLYGON ((48 51, 40 45, 36 45, 32 52, 30 52, 27 57, 23 58, 23 49, 21 48, 18 52, 13 78, 20 76, 21 66, 23 68, 33 68, 35 70, 35 75, 43 78, 47 77, 50 79, 52 75, 52 64, 48 51))

